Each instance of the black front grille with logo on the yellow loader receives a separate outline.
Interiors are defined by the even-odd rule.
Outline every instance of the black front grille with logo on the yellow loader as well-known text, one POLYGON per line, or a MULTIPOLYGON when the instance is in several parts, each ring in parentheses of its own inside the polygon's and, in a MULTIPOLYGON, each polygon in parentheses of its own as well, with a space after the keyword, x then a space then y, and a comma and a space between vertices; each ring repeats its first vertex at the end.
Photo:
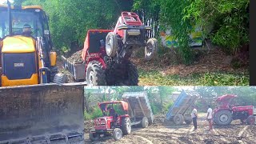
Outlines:
POLYGON ((2 54, 2 74, 10 80, 28 79, 36 73, 34 53, 2 54))

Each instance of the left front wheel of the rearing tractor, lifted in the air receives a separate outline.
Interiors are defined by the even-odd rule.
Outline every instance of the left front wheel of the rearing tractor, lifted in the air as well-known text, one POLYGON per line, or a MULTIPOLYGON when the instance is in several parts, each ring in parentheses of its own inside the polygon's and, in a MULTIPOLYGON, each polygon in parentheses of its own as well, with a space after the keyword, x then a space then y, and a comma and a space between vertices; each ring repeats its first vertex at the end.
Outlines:
POLYGON ((118 50, 118 37, 114 32, 109 32, 106 35, 106 55, 114 57, 118 50))

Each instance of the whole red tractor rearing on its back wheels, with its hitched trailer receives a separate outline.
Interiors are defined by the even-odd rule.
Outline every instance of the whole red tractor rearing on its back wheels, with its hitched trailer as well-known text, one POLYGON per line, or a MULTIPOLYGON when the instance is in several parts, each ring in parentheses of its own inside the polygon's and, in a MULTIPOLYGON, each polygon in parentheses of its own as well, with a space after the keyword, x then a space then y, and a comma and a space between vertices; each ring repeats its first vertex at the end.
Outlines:
POLYGON ((138 15, 122 12, 114 30, 88 30, 82 50, 83 63, 63 58, 64 67, 76 81, 90 86, 138 86, 138 70, 129 58, 138 47, 145 47, 150 60, 157 50, 157 40, 146 42, 146 30, 138 15))

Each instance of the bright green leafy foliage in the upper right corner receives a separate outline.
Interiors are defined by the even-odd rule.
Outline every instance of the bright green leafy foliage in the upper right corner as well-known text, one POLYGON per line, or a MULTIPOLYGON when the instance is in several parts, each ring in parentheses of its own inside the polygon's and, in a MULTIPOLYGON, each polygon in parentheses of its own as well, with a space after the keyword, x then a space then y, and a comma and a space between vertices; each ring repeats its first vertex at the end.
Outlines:
POLYGON ((226 52, 234 53, 249 42, 249 0, 190 0, 184 12, 184 19, 201 24, 204 37, 210 36, 226 52))

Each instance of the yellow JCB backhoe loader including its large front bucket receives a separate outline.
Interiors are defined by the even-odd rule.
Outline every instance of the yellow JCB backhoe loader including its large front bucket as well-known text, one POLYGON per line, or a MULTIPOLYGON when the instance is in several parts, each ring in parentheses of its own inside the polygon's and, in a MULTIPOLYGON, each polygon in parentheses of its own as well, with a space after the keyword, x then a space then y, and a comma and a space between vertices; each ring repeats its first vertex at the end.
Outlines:
POLYGON ((7 3, 0 5, 0 144, 83 143, 84 84, 58 74, 46 13, 7 3))

